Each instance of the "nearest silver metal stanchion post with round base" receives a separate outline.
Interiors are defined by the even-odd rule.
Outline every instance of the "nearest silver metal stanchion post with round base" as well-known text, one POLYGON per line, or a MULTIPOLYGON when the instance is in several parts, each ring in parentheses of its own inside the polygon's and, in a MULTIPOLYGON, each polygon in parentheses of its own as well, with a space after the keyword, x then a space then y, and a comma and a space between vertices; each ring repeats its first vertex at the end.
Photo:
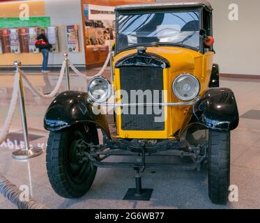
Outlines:
POLYGON ((20 71, 22 63, 20 61, 15 61, 13 63, 13 65, 16 68, 15 72, 19 73, 20 113, 21 113, 21 119, 22 119, 22 132, 24 134, 24 148, 13 152, 13 158, 16 160, 27 160, 31 157, 36 157, 38 155, 43 154, 43 149, 30 148, 27 121, 26 121, 26 111, 25 111, 25 105, 24 105, 24 90, 23 90, 23 86, 22 86, 22 75, 21 75, 21 71, 20 71))

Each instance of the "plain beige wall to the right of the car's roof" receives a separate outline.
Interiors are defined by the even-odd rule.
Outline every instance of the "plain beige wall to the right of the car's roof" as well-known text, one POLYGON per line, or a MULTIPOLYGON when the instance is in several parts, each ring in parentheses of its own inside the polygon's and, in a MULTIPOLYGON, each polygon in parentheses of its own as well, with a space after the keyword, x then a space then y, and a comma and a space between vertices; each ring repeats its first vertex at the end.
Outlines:
POLYGON ((220 72, 260 75, 260 1, 209 1, 214 8, 215 63, 220 65, 220 72), (238 5, 238 21, 229 20, 231 3, 238 5))

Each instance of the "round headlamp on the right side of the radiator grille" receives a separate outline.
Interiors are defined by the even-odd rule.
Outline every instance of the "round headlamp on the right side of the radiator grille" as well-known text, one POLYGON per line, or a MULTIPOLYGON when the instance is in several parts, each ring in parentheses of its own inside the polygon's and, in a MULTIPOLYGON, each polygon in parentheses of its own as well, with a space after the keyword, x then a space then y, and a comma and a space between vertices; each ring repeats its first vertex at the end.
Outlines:
POLYGON ((181 100, 193 100, 199 95, 199 80, 190 74, 183 74, 176 77, 172 89, 177 98, 181 100))

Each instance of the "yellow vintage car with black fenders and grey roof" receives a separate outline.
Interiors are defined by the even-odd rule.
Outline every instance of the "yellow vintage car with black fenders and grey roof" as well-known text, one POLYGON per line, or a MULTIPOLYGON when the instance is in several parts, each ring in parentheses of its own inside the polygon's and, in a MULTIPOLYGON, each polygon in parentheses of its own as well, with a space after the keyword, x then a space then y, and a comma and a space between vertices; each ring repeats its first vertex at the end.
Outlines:
POLYGON ((153 190, 142 189, 145 169, 207 167, 209 198, 227 203, 230 132, 239 115, 213 63, 212 11, 207 1, 116 7, 112 81, 93 77, 86 92, 61 93, 45 114, 47 173, 57 194, 82 197, 97 167, 129 167, 137 171, 136 188, 124 199, 148 200, 153 190), (104 107, 114 116, 114 134, 104 107), (118 155, 137 161, 106 161, 118 155), (192 162, 147 162, 153 155, 192 162))

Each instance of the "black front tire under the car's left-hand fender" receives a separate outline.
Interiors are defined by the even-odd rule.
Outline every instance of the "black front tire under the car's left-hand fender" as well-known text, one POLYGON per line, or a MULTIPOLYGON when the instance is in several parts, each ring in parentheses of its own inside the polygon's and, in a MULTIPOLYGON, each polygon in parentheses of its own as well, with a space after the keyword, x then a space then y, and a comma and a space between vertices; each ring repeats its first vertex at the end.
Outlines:
POLYGON ((54 191, 61 197, 84 196, 95 179, 97 167, 79 155, 75 146, 80 139, 98 144, 95 126, 77 125, 62 132, 50 132, 47 142, 47 175, 54 191))

